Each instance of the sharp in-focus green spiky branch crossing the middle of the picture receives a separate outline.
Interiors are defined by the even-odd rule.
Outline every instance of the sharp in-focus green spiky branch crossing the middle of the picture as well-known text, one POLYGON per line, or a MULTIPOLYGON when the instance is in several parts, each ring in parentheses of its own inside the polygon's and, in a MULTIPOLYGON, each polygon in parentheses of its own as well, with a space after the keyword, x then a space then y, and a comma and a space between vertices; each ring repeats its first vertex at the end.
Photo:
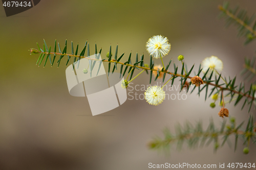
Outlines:
MULTIPOLYGON (((120 60, 123 59, 124 53, 118 58, 118 45, 116 46, 116 51, 115 51, 115 56, 114 57, 112 56, 112 46, 110 46, 109 58, 108 59, 102 59, 102 60, 99 60, 97 58, 97 55, 96 55, 96 58, 90 58, 90 46, 89 46, 88 42, 86 42, 86 44, 84 45, 84 47, 83 47, 83 49, 82 49, 82 51, 79 55, 78 55, 78 45, 77 45, 76 51, 74 53, 73 42, 71 42, 71 54, 67 54, 67 40, 65 42, 65 47, 63 48, 63 51, 61 51, 61 47, 60 47, 59 43, 57 43, 56 40, 55 40, 55 45, 54 45, 54 52, 51 52, 51 46, 48 49, 48 46, 47 46, 47 43, 46 43, 45 40, 44 40, 43 46, 44 46, 44 48, 43 48, 44 50, 42 50, 39 47, 39 45, 38 45, 39 50, 36 50, 34 48, 31 48, 31 50, 30 50, 31 54, 40 54, 39 58, 36 62, 36 64, 38 64, 38 62, 40 61, 39 66, 42 63, 45 56, 47 56, 47 57, 46 57, 46 60, 45 60, 44 67, 47 64, 48 59, 49 59, 49 62, 51 64, 51 66, 53 66, 54 60, 55 60, 57 55, 59 55, 59 60, 57 61, 57 66, 58 67, 59 67, 60 61, 65 56, 67 56, 66 66, 68 65, 69 61, 71 60, 71 57, 74 57, 74 61, 73 61, 72 64, 73 64, 73 67, 74 67, 74 64, 78 63, 77 68, 79 67, 80 59, 81 58, 86 58, 86 59, 89 60, 90 71, 93 70, 96 61, 99 61, 100 63, 102 63, 102 62, 108 63, 108 75, 110 74, 110 72, 113 73, 115 70, 118 71, 118 66, 117 65, 120 65, 120 70, 119 70, 120 77, 124 76, 127 72, 130 76, 130 80, 133 78, 135 69, 142 69, 142 70, 144 69, 146 71, 150 71, 150 83, 152 82, 153 71, 157 71, 157 76, 155 78, 155 81, 157 80, 160 72, 162 72, 162 74, 163 74, 163 82, 165 81, 166 74, 172 75, 172 81, 171 81, 170 84, 173 85, 174 80, 179 78, 180 79, 180 86, 181 86, 180 90, 183 89, 186 81, 192 78, 192 77, 190 77, 190 75, 191 75, 191 72, 194 69, 194 65, 193 65, 188 70, 186 63, 182 62, 182 68, 181 68, 179 73, 178 73, 178 66, 175 63, 173 64, 174 71, 173 72, 168 71, 167 69, 170 68, 170 64, 172 62, 172 59, 167 63, 166 69, 164 69, 164 68, 162 68, 161 70, 160 69, 154 69, 154 60, 153 60, 152 56, 150 56, 150 65, 148 67, 145 67, 144 66, 145 65, 144 64, 144 55, 142 55, 140 57, 140 60, 139 60, 138 54, 136 54, 135 63, 132 64, 132 59, 131 59, 132 58, 132 52, 129 54, 129 57, 128 57, 127 60, 125 60, 125 62, 120 62, 120 60), (58 44, 58 46, 57 46, 57 44, 58 44), (87 57, 86 57, 86 56, 84 56, 84 54, 86 52, 87 46, 88 46, 88 50, 87 50, 88 52, 87 52, 87 57), (59 49, 59 53, 56 52, 57 47, 59 49), (51 60, 51 55, 54 56, 53 60, 51 60), (113 68, 111 70, 112 65, 113 65, 113 68), (123 69, 123 66, 125 66, 124 69, 123 69)), ((101 50, 100 50, 99 54, 100 53, 101 53, 101 50)), ((96 43, 95 43, 95 54, 97 54, 97 44, 96 43)), ((101 64, 99 65, 99 67, 100 66, 101 66, 101 64)), ((213 76, 214 75, 213 70, 210 73, 210 76, 208 77, 207 75, 209 75, 208 74, 209 69, 204 74, 202 73, 202 69, 203 68, 201 68, 201 65, 200 65, 198 71, 194 72, 195 76, 199 76, 199 77, 202 76, 202 80, 204 82, 204 86, 198 88, 198 95, 199 96, 200 96, 200 93, 203 90, 205 90, 205 100, 206 100, 207 98, 209 98, 209 96, 211 94, 220 93, 221 91, 226 91, 227 93, 225 94, 224 97, 229 98, 229 103, 232 102, 232 101, 236 101, 236 102, 234 102, 234 106, 236 106, 243 98, 245 98, 242 109, 247 104, 247 105, 249 105, 248 112, 250 111, 252 103, 254 101, 254 93, 255 93, 255 89, 252 88, 252 85, 250 86, 250 89, 246 91, 244 83, 241 82, 240 85, 236 85, 236 77, 234 77, 233 79, 230 79, 230 77, 222 78, 221 75, 213 76), (212 80, 212 79, 214 79, 214 80, 212 80), (210 87, 212 87, 212 88, 209 89, 210 87)), ((99 68, 97 70, 99 70, 99 68)), ((193 88, 193 89, 191 89, 191 93, 192 93, 192 92, 195 91, 195 89, 197 87, 196 86, 191 87, 191 82, 189 82, 187 92, 189 91, 190 88, 193 88)), ((222 101, 223 101, 223 99, 221 97, 220 102, 222 102, 222 101)))

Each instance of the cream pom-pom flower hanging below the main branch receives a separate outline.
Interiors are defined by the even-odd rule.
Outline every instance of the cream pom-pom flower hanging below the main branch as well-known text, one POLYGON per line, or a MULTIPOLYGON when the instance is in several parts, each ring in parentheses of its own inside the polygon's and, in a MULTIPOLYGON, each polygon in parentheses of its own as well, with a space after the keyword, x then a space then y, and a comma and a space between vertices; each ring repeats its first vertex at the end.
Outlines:
POLYGON ((165 99, 165 92, 160 86, 150 86, 144 94, 146 102, 155 106, 161 104, 165 99))

